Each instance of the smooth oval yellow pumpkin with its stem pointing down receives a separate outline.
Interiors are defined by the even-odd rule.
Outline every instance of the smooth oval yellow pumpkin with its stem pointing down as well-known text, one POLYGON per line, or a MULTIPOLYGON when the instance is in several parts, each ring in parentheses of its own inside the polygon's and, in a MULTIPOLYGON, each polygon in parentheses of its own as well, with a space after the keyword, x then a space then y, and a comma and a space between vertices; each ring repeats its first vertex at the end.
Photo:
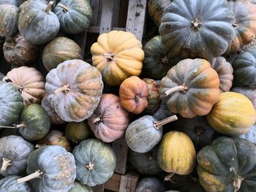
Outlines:
POLYGON ((159 166, 169 172, 165 180, 173 174, 190 174, 195 166, 195 147, 192 140, 180 131, 170 131, 162 139, 157 153, 159 166))

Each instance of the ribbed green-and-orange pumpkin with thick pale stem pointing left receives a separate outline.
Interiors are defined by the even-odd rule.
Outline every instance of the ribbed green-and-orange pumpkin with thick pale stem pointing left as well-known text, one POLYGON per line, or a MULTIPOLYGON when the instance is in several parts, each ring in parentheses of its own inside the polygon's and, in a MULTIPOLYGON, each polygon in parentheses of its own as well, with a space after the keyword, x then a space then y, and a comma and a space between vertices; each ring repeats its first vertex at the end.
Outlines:
POLYGON ((184 118, 207 115, 219 101, 219 77, 208 61, 187 58, 162 78, 159 93, 170 112, 184 118))

